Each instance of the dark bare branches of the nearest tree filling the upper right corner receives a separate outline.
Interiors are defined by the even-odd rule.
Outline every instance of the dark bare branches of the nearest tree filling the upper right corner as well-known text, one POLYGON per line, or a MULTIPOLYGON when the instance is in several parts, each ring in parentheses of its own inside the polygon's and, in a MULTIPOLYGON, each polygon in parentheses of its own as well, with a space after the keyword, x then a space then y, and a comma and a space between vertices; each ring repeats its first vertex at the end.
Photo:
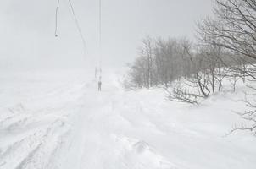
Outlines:
POLYGON ((233 53, 232 64, 244 78, 256 80, 256 1, 216 0, 215 19, 205 18, 198 24, 200 41, 220 46, 233 53), (242 68, 241 65, 250 65, 242 68), (238 65, 238 67, 237 67, 238 65))

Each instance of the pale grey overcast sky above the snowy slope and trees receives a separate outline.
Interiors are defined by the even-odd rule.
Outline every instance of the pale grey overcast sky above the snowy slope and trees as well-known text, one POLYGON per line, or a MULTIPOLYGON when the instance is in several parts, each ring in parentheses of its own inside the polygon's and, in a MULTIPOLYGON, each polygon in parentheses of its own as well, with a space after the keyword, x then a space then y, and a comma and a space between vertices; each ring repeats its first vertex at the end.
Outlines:
MULTIPOLYGON (((60 0, 1 0, 0 68, 94 67, 98 58, 98 1, 71 0, 86 38, 86 56, 70 13, 60 0)), ((146 35, 192 41, 195 22, 212 13, 211 0, 102 0, 103 67, 125 66, 146 35)))

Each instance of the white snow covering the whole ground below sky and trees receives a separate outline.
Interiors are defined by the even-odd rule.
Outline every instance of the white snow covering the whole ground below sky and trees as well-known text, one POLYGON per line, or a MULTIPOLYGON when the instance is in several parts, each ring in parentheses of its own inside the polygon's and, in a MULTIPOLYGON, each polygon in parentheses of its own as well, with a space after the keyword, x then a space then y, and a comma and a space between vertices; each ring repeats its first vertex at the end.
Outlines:
POLYGON ((0 168, 255 168, 255 137, 226 135, 244 88, 191 106, 126 91, 120 74, 99 93, 86 70, 0 73, 0 168))

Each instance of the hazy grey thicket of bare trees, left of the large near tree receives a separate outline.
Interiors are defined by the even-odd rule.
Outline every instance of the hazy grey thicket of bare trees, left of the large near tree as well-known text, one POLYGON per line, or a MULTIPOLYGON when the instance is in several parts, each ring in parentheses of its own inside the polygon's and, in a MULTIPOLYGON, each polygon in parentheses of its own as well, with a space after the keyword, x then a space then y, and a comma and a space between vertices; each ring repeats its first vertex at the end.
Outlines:
POLYGON ((175 80, 187 79, 198 85, 203 97, 221 89, 223 62, 235 64, 231 62, 231 54, 225 53, 221 47, 209 45, 195 48, 186 39, 147 37, 142 41, 138 54, 129 74, 133 87, 168 87, 175 80))

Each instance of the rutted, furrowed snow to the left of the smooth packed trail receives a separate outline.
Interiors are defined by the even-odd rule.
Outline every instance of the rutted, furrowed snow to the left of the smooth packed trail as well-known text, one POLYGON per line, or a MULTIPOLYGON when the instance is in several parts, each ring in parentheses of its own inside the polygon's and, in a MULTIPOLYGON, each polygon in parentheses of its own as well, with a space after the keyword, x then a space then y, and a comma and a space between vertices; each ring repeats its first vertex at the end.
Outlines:
MULTIPOLYGON (((1 169, 58 168, 54 159, 70 132, 69 110, 65 110, 69 107, 64 104, 69 101, 59 101, 53 106, 49 102, 59 97, 54 92, 44 96, 29 95, 34 99, 25 102, 27 106, 19 103, 0 107, 1 169)), ((20 93, 23 95, 22 90, 20 93)))

